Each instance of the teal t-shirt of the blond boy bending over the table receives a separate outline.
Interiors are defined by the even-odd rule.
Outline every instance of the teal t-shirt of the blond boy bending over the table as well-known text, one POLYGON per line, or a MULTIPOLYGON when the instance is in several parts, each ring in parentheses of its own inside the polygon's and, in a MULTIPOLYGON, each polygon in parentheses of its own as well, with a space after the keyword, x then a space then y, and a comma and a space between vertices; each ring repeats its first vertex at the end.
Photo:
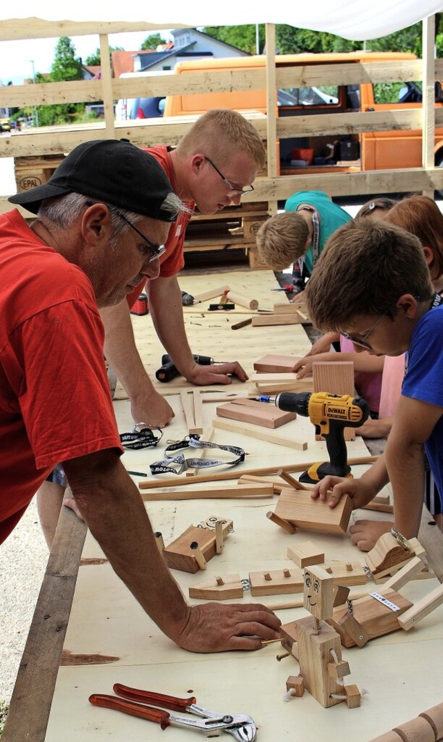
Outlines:
MULTIPOLYGON (((336 203, 327 197, 324 191, 297 191, 284 204, 284 211, 297 211, 302 203, 306 203, 308 206, 312 206, 317 211, 320 217, 320 229, 319 229, 319 255, 322 255, 322 249, 324 243, 330 237, 331 234, 336 232, 339 227, 352 220, 352 217, 340 209, 336 203)), ((313 270, 313 246, 310 245, 304 255, 304 265, 306 266, 309 273, 313 270)))

